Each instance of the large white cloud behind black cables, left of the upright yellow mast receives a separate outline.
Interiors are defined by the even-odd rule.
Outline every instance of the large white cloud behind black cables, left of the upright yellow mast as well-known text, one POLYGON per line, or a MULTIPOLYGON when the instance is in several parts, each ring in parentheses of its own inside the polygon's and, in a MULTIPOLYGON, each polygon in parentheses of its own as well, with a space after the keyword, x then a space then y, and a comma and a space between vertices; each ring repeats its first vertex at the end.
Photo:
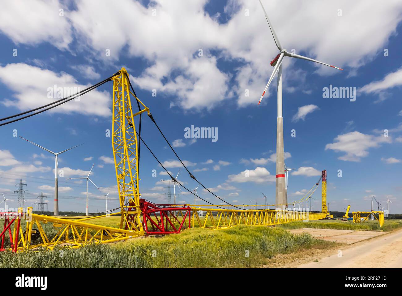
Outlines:
MULTIPOLYGON (((14 99, 4 99, 2 104, 6 107, 16 107, 24 111, 59 99, 48 97, 48 93, 54 93, 51 89, 54 89, 55 85, 55 95, 58 92, 57 88, 72 88, 72 93, 75 93, 89 86, 79 84, 73 76, 65 72, 55 73, 51 70, 42 70, 23 63, 0 66, 0 81, 14 92, 14 95, 12 95, 14 99), (13 77, 19 77, 19 79, 14 79, 13 77)), ((63 92, 62 97, 72 93, 63 92)), ((107 91, 92 90, 82 97, 59 105, 57 108, 50 109, 47 112, 80 113, 108 117, 111 116, 110 99, 110 93, 107 91)))

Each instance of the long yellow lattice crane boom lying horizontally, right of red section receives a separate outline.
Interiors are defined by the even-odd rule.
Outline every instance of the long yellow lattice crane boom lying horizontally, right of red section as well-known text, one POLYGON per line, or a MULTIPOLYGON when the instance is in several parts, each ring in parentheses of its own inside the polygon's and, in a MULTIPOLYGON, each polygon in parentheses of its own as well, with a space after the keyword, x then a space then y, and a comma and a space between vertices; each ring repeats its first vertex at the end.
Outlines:
POLYGON ((311 213, 282 210, 227 210, 192 208, 192 226, 207 229, 222 229, 236 225, 270 226, 293 221, 324 219, 326 213, 311 213), (199 214, 202 213, 203 219, 199 214))

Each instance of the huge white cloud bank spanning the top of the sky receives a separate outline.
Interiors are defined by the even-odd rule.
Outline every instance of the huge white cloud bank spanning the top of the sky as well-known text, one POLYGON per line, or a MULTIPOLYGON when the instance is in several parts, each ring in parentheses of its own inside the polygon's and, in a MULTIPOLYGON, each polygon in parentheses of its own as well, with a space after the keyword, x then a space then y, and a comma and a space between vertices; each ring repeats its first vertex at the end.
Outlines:
MULTIPOLYGON (((119 5, 83 1, 77 2, 72 11, 65 8, 65 16, 60 17, 58 10, 64 6, 56 0, 50 5, 31 1, 23 7, 11 1, 0 12, 0 30, 18 43, 44 41, 61 49, 77 39, 81 41, 80 50, 88 48, 92 58, 108 63, 116 61, 123 51, 124 55, 145 58, 148 68, 132 77, 132 81, 145 90, 155 88, 177 94, 177 104, 185 109, 210 109, 232 94, 239 106, 255 103, 272 71, 266 65, 278 52, 269 33, 261 34, 268 30, 263 11, 257 1, 230 1, 224 9, 230 19, 219 24, 216 14, 205 12, 205 3, 206 0, 156 0, 143 6, 140 1, 119 5), (152 16, 154 8, 156 16, 152 16), (245 8, 250 17, 244 15, 245 8), (110 49, 109 58, 105 58, 105 49, 110 49), (202 57, 198 56, 198 49, 203 49, 202 57), (231 76, 218 69, 211 49, 217 49, 224 58, 242 62, 234 77, 234 88, 228 88, 231 76), (245 89, 250 90, 249 97, 244 96, 245 89)), ((285 48, 295 48, 297 53, 337 66, 352 67, 352 72, 384 49, 396 32, 402 10, 399 0, 388 0, 387 5, 377 5, 374 0, 312 0, 295 2, 286 9, 278 0, 264 1, 264 6, 285 48), (342 17, 337 16, 340 6, 342 17), (365 46, 362 48, 361 44, 365 46)), ((291 58, 283 62, 285 83, 289 80, 287 69, 294 68, 294 63, 291 58)), ((330 67, 310 65, 317 67, 319 74, 341 73, 330 67)), ((293 91, 297 89, 291 87, 293 91)))

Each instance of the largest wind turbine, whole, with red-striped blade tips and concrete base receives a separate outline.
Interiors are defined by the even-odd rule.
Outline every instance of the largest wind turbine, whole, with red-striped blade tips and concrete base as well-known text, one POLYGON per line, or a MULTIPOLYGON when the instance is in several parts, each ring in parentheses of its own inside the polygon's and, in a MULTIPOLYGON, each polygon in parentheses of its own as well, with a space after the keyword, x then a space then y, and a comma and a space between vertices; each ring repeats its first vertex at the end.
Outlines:
MULTIPOLYGON (((326 66, 330 66, 332 68, 336 68, 339 70, 343 70, 340 69, 338 67, 332 66, 330 64, 326 64, 311 58, 307 58, 304 56, 300 56, 297 55, 295 53, 288 53, 286 51, 286 49, 284 49, 281 45, 281 43, 279 42, 279 39, 274 31, 274 28, 271 24, 271 22, 269 21, 267 12, 265 12, 264 6, 261 3, 260 4, 261 7, 264 10, 264 14, 265 14, 265 18, 267 19, 269 28, 271 29, 271 33, 272 36, 274 38, 275 41, 275 45, 278 47, 279 49, 279 54, 271 61, 271 66, 274 67, 274 70, 272 72, 271 78, 269 78, 269 81, 267 83, 267 86, 265 86, 264 92, 260 97, 260 101, 258 101, 258 105, 260 105, 261 100, 263 99, 265 92, 268 89, 269 84, 271 84, 271 81, 273 80, 275 74, 278 73, 278 83, 277 83, 277 102, 278 102, 278 117, 277 117, 277 153, 276 153, 276 204, 287 204, 287 196, 286 196, 286 189, 285 189, 285 175, 282 173, 284 171, 284 150, 283 150, 283 116, 282 116, 282 61, 283 61, 283 57, 287 56, 290 58, 298 58, 298 59, 302 59, 302 60, 307 60, 310 62, 315 62, 318 64, 322 64, 322 65, 326 65, 326 66)), ((284 208, 285 206, 282 206, 282 208, 284 208)))

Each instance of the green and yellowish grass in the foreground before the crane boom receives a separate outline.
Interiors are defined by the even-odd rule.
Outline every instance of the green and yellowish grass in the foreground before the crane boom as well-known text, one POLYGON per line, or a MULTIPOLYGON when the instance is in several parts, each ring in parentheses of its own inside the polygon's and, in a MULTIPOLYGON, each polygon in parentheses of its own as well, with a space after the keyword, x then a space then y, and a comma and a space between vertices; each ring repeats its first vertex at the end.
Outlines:
POLYGON ((335 243, 293 235, 281 228, 236 226, 225 230, 191 229, 161 238, 137 238, 82 249, 0 253, 0 267, 258 267, 276 254, 329 248, 335 243))

